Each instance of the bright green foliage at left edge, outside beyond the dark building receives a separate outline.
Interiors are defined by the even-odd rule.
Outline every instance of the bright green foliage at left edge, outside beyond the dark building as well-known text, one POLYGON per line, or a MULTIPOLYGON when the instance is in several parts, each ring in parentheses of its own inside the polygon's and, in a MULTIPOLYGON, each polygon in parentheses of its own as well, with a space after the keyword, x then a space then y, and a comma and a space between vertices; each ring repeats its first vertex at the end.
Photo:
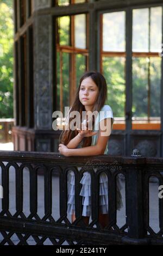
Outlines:
POLYGON ((13 9, 0 0, 0 118, 13 118, 13 9))

